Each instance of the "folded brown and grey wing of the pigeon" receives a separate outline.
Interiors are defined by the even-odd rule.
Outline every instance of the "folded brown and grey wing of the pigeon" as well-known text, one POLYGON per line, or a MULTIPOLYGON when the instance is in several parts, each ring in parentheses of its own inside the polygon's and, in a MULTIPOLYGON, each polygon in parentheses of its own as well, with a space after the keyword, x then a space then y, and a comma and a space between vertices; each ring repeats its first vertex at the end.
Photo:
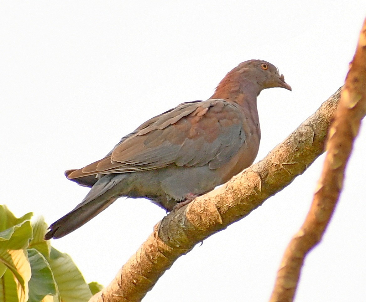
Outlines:
POLYGON ((182 103, 146 121, 122 138, 105 158, 68 178, 152 170, 171 164, 217 169, 246 139, 239 105, 223 99, 182 103))

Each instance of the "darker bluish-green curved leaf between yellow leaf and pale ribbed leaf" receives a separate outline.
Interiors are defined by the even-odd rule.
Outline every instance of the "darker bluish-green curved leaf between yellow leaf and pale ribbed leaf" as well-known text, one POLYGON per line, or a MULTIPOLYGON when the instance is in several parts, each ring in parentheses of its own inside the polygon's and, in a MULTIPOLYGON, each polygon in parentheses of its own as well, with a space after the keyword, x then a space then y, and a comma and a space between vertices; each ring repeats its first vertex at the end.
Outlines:
POLYGON ((28 283, 28 302, 38 302, 47 295, 56 295, 55 280, 46 258, 36 249, 28 249, 28 259, 32 271, 28 283))

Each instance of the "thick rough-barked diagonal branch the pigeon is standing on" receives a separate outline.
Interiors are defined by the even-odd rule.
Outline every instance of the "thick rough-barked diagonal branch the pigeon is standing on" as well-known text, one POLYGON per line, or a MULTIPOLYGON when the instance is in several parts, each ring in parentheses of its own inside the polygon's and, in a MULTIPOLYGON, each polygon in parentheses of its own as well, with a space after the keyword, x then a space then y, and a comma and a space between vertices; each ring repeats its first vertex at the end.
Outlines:
POLYGON ((289 185, 324 151, 339 89, 281 144, 220 188, 172 212, 90 301, 141 301, 174 261, 195 244, 247 216, 289 185))

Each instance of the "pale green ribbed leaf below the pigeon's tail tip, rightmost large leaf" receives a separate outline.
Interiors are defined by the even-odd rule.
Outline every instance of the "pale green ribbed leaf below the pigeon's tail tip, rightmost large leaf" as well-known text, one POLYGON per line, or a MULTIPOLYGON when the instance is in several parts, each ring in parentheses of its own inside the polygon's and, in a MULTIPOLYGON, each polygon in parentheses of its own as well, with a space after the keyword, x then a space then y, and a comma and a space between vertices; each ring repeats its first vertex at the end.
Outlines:
POLYGON ((56 280, 61 301, 82 302, 90 299, 89 286, 68 254, 51 247, 49 265, 56 280))

